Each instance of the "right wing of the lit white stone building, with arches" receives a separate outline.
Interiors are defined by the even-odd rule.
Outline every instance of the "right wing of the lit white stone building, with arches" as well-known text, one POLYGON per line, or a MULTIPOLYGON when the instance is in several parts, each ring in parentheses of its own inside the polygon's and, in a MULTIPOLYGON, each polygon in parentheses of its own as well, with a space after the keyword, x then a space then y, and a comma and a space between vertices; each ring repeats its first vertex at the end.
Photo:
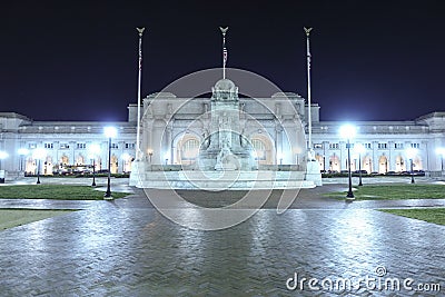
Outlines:
MULTIPOLYGON (((343 122, 318 121, 313 125, 314 150, 320 168, 328 171, 347 170, 346 141, 338 137, 343 122)), ((357 136, 353 145, 360 143, 362 169, 386 174, 425 170, 441 175, 445 156, 445 112, 432 112, 407 121, 356 121, 357 136), (408 156, 409 148, 414 155, 408 156)), ((352 170, 358 170, 358 154, 352 155, 352 170)))

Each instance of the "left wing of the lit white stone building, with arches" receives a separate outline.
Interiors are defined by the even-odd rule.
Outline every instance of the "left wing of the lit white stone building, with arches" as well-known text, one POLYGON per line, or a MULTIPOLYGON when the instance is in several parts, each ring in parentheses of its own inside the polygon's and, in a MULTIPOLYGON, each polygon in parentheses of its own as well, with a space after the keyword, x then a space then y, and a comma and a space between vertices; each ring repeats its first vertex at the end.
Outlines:
POLYGON ((118 137, 112 140, 111 172, 131 171, 135 156, 136 126, 134 122, 33 121, 14 112, 0 112, 0 150, 7 157, 1 169, 10 178, 19 172, 41 175, 91 170, 108 167, 108 138, 103 127, 113 126, 118 137), (96 143, 100 150, 92 152, 96 143), (41 156, 37 156, 38 152, 41 156), (40 162, 39 162, 40 160, 40 162))

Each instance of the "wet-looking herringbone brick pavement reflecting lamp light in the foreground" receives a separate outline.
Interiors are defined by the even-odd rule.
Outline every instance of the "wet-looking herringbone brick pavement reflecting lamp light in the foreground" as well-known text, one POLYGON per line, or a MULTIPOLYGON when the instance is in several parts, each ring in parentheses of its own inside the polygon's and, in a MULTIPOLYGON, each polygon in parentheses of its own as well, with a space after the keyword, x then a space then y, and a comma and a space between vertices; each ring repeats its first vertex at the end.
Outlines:
MULTIPOLYGON (((444 296, 445 227, 373 209, 380 205, 317 195, 342 187, 303 190, 283 215, 270 202, 219 231, 167 220, 140 190, 113 201, 1 200, 1 208, 26 202, 82 210, 0 232, 0 295, 444 296), (386 275, 378 277, 377 267, 386 275), (298 286, 289 290, 286 281, 295 273, 298 286), (357 285, 366 277, 412 278, 413 288, 439 284, 442 290, 373 289, 378 281, 335 290, 343 278, 357 285), (326 286, 332 280, 334 290, 310 290, 309 278, 325 279, 326 286)), ((178 211, 199 219, 195 209, 178 211)))

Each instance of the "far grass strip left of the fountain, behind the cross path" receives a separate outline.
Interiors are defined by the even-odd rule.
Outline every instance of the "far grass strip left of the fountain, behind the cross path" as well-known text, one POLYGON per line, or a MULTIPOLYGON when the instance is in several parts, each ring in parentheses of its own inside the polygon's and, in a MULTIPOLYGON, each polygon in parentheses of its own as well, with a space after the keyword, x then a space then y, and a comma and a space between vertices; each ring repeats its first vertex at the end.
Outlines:
MULTIPOLYGON (((1 186, 0 198, 21 199, 58 199, 58 200, 102 200, 103 191, 95 190, 89 186, 71 185, 17 185, 1 186)), ((128 192, 112 191, 113 198, 122 198, 128 192)))

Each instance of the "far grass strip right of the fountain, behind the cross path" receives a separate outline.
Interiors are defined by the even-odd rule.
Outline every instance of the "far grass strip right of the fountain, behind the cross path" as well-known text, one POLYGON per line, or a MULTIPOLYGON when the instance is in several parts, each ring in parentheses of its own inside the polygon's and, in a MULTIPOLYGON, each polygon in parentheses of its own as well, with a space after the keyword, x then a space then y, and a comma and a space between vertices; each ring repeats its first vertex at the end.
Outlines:
MULTIPOLYGON (((397 199, 444 199, 444 185, 418 185, 418 184, 390 184, 390 185, 365 185, 354 187, 356 200, 397 200, 397 199)), ((327 192, 324 196, 345 199, 346 191, 327 192)))

